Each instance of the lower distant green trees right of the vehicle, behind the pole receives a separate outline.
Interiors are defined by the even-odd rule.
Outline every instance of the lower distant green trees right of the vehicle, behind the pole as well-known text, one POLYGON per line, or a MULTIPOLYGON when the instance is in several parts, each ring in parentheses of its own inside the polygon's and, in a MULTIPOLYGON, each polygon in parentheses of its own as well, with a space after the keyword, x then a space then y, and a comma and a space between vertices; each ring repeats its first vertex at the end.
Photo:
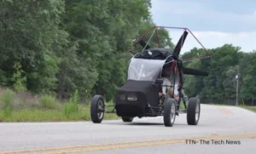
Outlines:
MULTIPOLYGON (((256 96, 256 51, 241 51, 233 44, 208 49, 212 57, 194 60, 184 66, 209 72, 208 77, 186 76, 186 94, 200 96, 205 103, 236 104, 236 75, 238 75, 238 99, 240 104, 253 105, 256 96)), ((183 54, 183 59, 205 55, 202 48, 193 48, 183 54)))

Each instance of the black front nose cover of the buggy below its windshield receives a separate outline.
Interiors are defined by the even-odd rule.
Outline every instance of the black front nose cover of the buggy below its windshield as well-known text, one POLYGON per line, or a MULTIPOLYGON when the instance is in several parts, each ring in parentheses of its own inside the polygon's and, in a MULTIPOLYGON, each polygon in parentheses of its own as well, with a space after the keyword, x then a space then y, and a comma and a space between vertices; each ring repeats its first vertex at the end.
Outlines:
MULTIPOLYGON (((149 81, 128 80, 119 88, 115 110, 119 117, 144 117, 151 113, 150 106, 158 106, 160 87, 149 81)), ((154 112, 157 109, 152 108, 154 112)))

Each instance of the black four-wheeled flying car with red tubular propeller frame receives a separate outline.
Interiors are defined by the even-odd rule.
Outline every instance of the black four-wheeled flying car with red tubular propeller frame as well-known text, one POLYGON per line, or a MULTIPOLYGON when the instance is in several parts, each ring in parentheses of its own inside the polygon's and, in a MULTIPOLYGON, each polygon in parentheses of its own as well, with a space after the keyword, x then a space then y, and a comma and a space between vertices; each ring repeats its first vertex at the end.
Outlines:
MULTIPOLYGON (((183 43, 188 36, 188 28, 153 26, 142 37, 132 44, 140 44, 141 52, 131 51, 132 57, 128 65, 127 79, 117 90, 113 110, 106 111, 102 95, 96 94, 90 104, 90 117, 93 123, 102 123, 105 113, 115 113, 123 122, 131 123, 134 117, 163 117, 166 127, 172 127, 176 116, 187 114, 187 123, 197 125, 200 119, 201 102, 199 97, 189 98, 188 106, 184 99, 183 74, 207 76, 207 71, 200 71, 183 66, 179 58, 183 43), (149 31, 157 32, 158 28, 182 29, 183 34, 174 49, 150 47, 150 39, 146 43, 143 38, 149 31), (180 108, 183 101, 184 109, 180 108)), ((159 38, 157 36, 157 38, 159 38)), ((198 39, 195 37, 198 41, 198 39)), ((159 41, 159 40, 158 40, 159 41)), ((200 43, 198 41, 198 43, 200 43)), ((200 43, 201 44, 201 43, 200 43)), ((202 44, 201 44, 202 46, 202 44)), ((203 46, 202 46, 203 47, 203 46)), ((204 47, 203 47, 204 48, 204 47)), ((207 49, 204 48, 206 51, 207 49)), ((211 57, 207 55, 206 57, 211 57)))

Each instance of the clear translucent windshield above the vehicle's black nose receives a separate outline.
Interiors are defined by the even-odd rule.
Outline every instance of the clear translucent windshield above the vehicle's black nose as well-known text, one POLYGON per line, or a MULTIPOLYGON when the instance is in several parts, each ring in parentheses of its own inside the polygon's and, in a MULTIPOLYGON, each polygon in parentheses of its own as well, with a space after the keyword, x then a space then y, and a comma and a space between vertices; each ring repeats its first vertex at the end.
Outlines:
POLYGON ((132 58, 128 68, 128 80, 154 81, 164 64, 165 60, 132 58))

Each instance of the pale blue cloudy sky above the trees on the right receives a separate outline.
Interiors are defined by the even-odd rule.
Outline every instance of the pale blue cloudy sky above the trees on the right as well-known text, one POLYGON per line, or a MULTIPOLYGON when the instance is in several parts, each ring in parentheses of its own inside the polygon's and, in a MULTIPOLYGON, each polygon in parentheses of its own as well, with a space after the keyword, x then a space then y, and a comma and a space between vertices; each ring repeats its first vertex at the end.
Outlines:
MULTIPOLYGON (((243 52, 256 49, 255 0, 151 0, 151 3, 156 25, 189 28, 205 48, 232 43, 243 52)), ((173 43, 177 43, 182 32, 170 29, 173 43)), ((189 34, 181 54, 195 47, 201 45, 189 34)))

